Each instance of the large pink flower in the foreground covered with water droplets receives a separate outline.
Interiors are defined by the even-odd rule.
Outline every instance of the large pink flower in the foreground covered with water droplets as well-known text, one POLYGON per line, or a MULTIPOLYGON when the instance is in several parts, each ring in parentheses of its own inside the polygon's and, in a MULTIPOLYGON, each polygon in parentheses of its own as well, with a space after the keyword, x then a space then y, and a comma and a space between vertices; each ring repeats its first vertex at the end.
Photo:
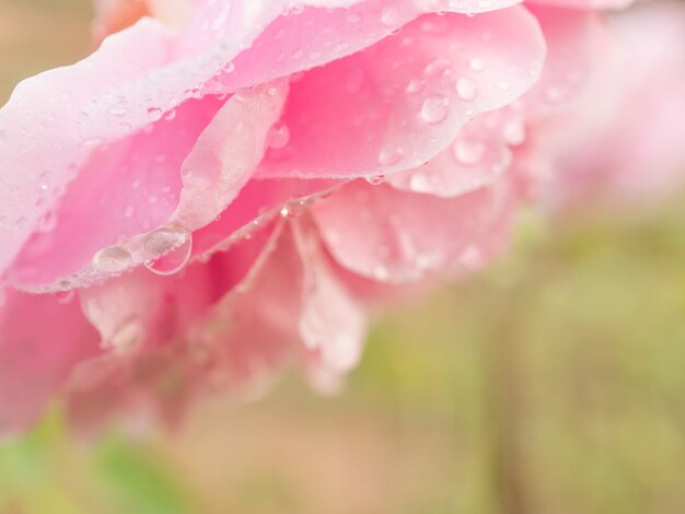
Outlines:
POLYGON ((580 1, 294 3, 101 1, 98 37, 155 17, 0 110, 0 431, 335 388, 370 307, 502 250, 609 37, 580 1))

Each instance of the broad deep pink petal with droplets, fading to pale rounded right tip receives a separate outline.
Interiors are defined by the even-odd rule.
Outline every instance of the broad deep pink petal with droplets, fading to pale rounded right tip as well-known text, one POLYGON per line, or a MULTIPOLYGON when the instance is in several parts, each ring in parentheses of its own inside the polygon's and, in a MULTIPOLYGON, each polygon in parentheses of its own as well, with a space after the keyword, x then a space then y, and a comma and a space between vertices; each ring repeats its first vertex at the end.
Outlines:
POLYGON ((282 119, 290 141, 268 152, 258 176, 351 178, 419 166, 471 117, 526 91, 544 52, 521 8, 423 16, 292 83, 282 119), (474 59, 486 67, 474 71, 474 59))

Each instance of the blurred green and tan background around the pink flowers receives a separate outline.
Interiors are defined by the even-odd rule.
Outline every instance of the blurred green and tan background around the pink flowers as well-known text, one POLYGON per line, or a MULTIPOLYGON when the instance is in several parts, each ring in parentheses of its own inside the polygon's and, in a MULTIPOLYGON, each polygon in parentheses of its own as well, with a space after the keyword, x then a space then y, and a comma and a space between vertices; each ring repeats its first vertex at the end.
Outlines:
MULTIPOLYGON (((0 0, 0 103, 88 52, 90 15, 0 0)), ((0 443, 0 514, 682 514, 682 208, 520 225, 488 272, 380 319, 339 397, 287 376, 89 443, 56 406, 0 443)))

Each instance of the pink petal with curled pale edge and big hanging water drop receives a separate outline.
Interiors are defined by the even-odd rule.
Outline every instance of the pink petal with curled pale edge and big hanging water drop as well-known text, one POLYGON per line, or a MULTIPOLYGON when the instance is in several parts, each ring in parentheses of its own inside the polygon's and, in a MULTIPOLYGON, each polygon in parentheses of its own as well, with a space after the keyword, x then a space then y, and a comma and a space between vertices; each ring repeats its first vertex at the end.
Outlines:
POLYGON ((212 97, 187 102, 173 120, 96 152, 54 214, 55 226, 23 249, 12 283, 30 290, 97 283, 184 244, 247 182, 285 94, 274 85, 223 105, 212 97))

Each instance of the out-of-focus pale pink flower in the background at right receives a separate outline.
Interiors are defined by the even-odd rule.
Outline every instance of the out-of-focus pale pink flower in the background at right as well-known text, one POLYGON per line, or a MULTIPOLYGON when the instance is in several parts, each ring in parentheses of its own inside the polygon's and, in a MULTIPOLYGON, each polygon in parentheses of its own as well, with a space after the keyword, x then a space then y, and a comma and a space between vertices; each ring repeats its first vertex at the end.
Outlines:
POLYGON ((608 20, 609 51, 568 115, 534 130, 556 170, 555 207, 649 207, 685 185, 685 5, 641 4, 608 20))

